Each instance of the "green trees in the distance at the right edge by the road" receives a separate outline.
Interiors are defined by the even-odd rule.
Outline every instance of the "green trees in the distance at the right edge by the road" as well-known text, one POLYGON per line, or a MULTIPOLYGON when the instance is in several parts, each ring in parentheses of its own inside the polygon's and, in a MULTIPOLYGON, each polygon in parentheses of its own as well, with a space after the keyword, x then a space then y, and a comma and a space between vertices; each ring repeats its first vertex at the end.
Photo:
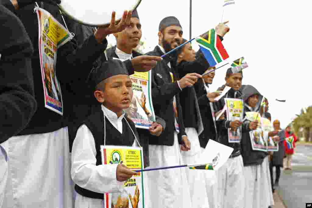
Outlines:
POLYGON ((303 128, 305 141, 312 142, 312 106, 301 109, 301 114, 293 120, 292 126, 296 135, 303 128))

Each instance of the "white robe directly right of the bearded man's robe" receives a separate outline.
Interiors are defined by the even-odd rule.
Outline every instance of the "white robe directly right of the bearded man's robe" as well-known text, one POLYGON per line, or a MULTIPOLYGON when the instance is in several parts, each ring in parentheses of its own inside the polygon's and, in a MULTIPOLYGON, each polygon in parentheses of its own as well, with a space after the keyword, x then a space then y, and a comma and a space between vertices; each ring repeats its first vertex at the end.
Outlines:
MULTIPOLYGON (((186 152, 181 151, 181 163, 183 165, 194 164, 198 162, 202 152, 198 134, 195 128, 185 128, 185 133, 188 136, 188 140, 191 142, 191 149, 186 152)), ((207 171, 186 169, 193 207, 209 208, 205 172, 207 171)))

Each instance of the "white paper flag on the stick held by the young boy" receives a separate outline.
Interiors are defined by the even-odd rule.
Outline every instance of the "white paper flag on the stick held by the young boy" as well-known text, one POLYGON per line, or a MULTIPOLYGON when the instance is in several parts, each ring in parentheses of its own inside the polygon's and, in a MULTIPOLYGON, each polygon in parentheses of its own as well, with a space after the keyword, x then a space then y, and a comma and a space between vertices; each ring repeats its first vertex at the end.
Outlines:
POLYGON ((220 144, 212 139, 209 139, 205 150, 199 157, 198 164, 207 164, 203 168, 193 168, 193 169, 207 169, 206 170, 218 170, 227 159, 231 156, 233 148, 226 145, 220 144))

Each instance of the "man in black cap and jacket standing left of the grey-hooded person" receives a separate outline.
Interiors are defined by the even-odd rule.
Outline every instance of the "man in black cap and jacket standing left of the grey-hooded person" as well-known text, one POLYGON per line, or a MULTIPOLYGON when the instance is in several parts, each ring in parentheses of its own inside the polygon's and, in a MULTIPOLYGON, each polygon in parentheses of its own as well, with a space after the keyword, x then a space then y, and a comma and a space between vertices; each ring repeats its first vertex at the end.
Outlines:
MULTIPOLYGON (((233 68, 227 69, 225 81, 227 86, 231 89, 224 95, 216 104, 216 110, 222 110, 225 105, 224 98, 240 98, 242 99, 242 93, 240 91, 241 82, 243 79, 242 71, 237 72, 233 68)), ((218 90, 223 90, 225 86, 222 86, 218 90)), ((239 120, 229 121, 225 116, 222 121, 217 121, 218 138, 217 141, 234 150, 227 160, 227 162, 218 170, 218 190, 219 190, 219 202, 220 207, 238 208, 244 206, 244 189, 245 179, 243 172, 243 159, 241 156, 240 143, 229 143, 228 141, 228 129, 236 131, 237 128, 241 128, 240 132, 246 132, 250 129, 254 129, 255 122, 245 121, 242 123, 239 120)))

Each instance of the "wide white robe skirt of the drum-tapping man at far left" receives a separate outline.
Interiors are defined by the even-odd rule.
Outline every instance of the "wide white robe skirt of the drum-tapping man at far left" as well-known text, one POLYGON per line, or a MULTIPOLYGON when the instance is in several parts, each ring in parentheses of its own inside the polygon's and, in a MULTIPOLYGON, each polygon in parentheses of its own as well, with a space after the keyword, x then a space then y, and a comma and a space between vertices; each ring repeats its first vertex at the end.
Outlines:
POLYGON ((7 177, 0 182, 3 208, 73 207, 67 127, 11 137, 1 146, 1 169, 8 167, 0 171, 0 177, 7 177))

